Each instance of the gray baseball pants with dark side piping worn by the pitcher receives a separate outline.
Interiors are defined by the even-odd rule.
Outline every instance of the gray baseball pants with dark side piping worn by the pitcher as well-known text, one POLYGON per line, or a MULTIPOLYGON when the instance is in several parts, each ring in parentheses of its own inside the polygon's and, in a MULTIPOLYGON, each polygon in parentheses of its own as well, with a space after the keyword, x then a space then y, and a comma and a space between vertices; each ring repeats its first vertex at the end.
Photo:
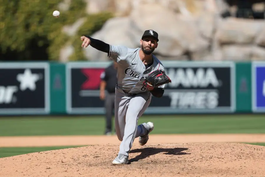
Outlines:
POLYGON ((138 125, 138 118, 150 104, 152 94, 144 93, 130 96, 116 87, 115 91, 115 129, 121 141, 120 154, 128 155, 135 138, 147 133, 146 123, 138 125))

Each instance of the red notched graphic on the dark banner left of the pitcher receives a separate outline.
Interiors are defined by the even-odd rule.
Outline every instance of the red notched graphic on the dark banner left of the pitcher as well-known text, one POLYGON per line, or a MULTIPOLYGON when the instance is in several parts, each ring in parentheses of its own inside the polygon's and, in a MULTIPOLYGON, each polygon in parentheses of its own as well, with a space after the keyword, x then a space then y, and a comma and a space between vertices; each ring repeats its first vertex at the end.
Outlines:
POLYGON ((87 77, 87 80, 81 85, 81 89, 98 89, 101 81, 100 74, 103 71, 105 71, 104 68, 81 69, 81 72, 87 77))

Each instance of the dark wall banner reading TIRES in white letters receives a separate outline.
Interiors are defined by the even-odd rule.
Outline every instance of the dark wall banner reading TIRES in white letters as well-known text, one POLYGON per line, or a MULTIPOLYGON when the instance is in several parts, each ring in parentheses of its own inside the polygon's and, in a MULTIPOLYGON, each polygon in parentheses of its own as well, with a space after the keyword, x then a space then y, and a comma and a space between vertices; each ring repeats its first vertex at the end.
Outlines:
POLYGON ((163 62, 172 83, 152 97, 146 113, 225 113, 235 111, 232 62, 163 62))

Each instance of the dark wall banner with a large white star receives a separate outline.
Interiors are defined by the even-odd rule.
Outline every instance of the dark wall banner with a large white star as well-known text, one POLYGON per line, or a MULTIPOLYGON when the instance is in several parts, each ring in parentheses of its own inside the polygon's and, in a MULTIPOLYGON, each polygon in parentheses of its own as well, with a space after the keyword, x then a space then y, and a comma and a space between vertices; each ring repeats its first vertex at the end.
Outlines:
POLYGON ((49 114, 49 63, 0 64, 0 114, 49 114))

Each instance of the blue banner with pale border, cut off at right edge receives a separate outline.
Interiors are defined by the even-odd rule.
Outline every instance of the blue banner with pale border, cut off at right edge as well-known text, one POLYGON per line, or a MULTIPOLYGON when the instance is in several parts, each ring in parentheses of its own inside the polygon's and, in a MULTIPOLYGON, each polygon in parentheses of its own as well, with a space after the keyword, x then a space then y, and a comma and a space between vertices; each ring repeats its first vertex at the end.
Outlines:
POLYGON ((252 111, 265 112, 265 62, 252 63, 252 111))

